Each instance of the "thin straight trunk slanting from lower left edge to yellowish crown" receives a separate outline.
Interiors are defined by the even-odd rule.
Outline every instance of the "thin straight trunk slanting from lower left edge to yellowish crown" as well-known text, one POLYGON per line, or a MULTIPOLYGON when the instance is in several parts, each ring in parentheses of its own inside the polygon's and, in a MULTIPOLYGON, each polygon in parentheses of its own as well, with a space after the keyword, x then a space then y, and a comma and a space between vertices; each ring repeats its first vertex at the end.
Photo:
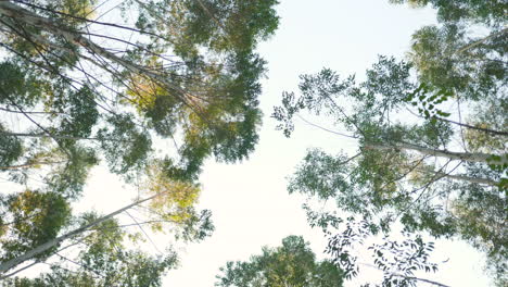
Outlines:
POLYGON ((122 213, 122 212, 124 212, 124 211, 126 211, 128 209, 131 209, 131 208, 134 208, 136 205, 139 205, 139 204, 145 202, 145 201, 154 199, 155 197, 157 197, 160 195, 161 194, 157 194, 157 195, 151 196, 149 198, 138 200, 138 201, 136 201, 136 202, 134 202, 131 204, 128 204, 127 207, 124 207, 124 208, 122 208, 119 210, 116 210, 116 211, 114 211, 114 212, 112 212, 112 213, 110 213, 107 215, 104 215, 104 216, 98 219, 97 221, 94 221, 92 223, 89 223, 89 224, 87 224, 87 225, 85 225, 82 227, 79 227, 77 229, 74 229, 74 230, 72 230, 72 232, 69 232, 69 233, 67 233, 65 235, 62 235, 62 236, 56 237, 56 238, 54 238, 52 240, 49 240, 48 242, 42 244, 42 245, 40 245, 40 246, 25 252, 24 254, 22 254, 20 257, 16 257, 14 259, 5 261, 5 262, 0 264, 0 274, 7 272, 8 270, 10 270, 10 269, 23 263, 23 262, 25 262, 26 260, 33 259, 37 254, 40 254, 40 253, 45 252, 46 250, 56 246, 58 244, 62 242, 63 240, 71 239, 71 238, 86 232, 87 229, 89 229, 89 228, 91 228, 91 227, 93 227, 93 226, 96 226, 96 225, 98 225, 98 224, 100 224, 100 223, 102 223, 104 221, 107 221, 107 220, 112 219, 113 216, 115 216, 115 215, 117 215, 117 214, 119 214, 119 213, 122 213))

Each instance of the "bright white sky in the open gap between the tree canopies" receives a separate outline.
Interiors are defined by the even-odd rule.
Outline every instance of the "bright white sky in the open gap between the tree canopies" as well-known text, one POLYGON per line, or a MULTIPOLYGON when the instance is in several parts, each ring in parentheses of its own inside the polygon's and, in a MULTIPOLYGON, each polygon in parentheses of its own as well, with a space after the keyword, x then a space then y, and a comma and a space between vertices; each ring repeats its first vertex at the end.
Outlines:
MULTIPOLYGON (((326 239, 318 229, 307 226, 301 209, 303 200, 288 195, 287 177, 306 149, 321 147, 338 152, 352 148, 354 142, 302 122, 287 139, 275 130, 276 123, 269 117, 272 107, 280 104, 283 90, 296 90, 300 74, 326 66, 341 75, 356 73, 361 78, 378 54, 404 57, 410 35, 434 23, 435 17, 431 10, 390 5, 388 0, 281 2, 280 28, 259 49, 269 62, 261 97, 265 113, 261 141, 249 161, 226 165, 211 160, 204 166, 200 207, 213 211, 216 230, 204 242, 181 252, 180 269, 168 273, 164 286, 211 287, 227 261, 247 260, 259 253, 262 246, 279 246, 288 235, 303 235, 321 255, 326 239)), ((86 200, 104 212, 125 205, 124 197, 127 200, 127 195, 131 195, 100 172, 86 190, 86 200)), ((469 246, 440 244, 435 253, 437 259, 449 261, 441 265, 439 274, 427 274, 426 278, 460 287, 488 285, 482 273, 483 259, 469 246)), ((357 285, 353 282, 346 286, 357 285)))

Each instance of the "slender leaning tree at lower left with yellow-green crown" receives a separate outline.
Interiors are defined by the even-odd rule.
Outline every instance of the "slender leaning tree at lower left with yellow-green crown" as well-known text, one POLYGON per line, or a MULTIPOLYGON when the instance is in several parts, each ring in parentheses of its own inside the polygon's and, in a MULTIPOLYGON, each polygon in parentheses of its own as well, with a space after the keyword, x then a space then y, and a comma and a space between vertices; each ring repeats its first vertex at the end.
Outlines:
MULTIPOLYGON (((157 179, 160 180, 160 178, 157 179)), ((114 216, 123 212, 127 212, 129 209, 139 207, 142 203, 149 201, 152 202, 151 204, 149 204, 149 208, 151 208, 151 210, 153 211, 152 214, 156 213, 157 216, 156 220, 150 219, 147 223, 152 226, 157 226, 158 229, 162 229, 163 223, 176 225, 178 228, 181 229, 181 235, 186 240, 201 240, 207 235, 209 235, 211 230, 213 230, 213 225, 209 221, 209 212, 205 211, 200 215, 196 214, 191 208, 192 203, 196 198, 198 189, 195 187, 188 186, 185 184, 173 184, 172 189, 168 189, 168 183, 165 183, 165 185, 161 185, 161 183, 155 183, 154 186, 151 187, 150 191, 153 194, 150 197, 137 200, 107 215, 97 219, 87 216, 85 224, 59 237, 54 236, 59 230, 59 227, 61 227, 64 224, 64 221, 68 220, 69 215, 68 207, 65 205, 66 202, 63 201, 62 203, 55 200, 54 198, 50 198, 47 200, 48 202, 46 203, 50 205, 47 208, 47 210, 40 212, 39 207, 37 207, 34 202, 29 202, 29 200, 38 202, 40 201, 40 199, 34 198, 34 192, 26 192, 27 195, 25 197, 27 199, 15 199, 23 200, 23 203, 16 201, 11 203, 11 205, 13 207, 12 209, 22 209, 22 214, 28 217, 21 220, 14 219, 14 223, 17 223, 15 225, 15 228, 16 230, 18 230, 17 234, 20 234, 21 232, 25 232, 28 233, 30 237, 37 236, 37 241, 33 239, 33 241, 35 242, 31 242, 31 245, 28 246, 23 245, 23 242, 20 241, 13 241, 12 239, 3 242, 3 246, 5 248, 4 258, 7 259, 5 261, 0 263, 0 274, 5 273, 7 271, 20 265, 21 263, 27 260, 36 260, 36 262, 45 260, 49 255, 52 255, 54 253, 54 250, 58 247, 60 247, 62 242, 72 240, 76 237, 82 237, 84 233, 90 230, 97 233, 97 229, 94 228, 96 226, 106 221, 112 221, 114 216), (66 213, 61 212, 54 208, 59 205, 63 205, 63 209, 66 209, 66 213), (33 209, 39 210, 35 211, 35 214, 30 214, 27 212, 27 210, 30 211, 33 209), (60 217, 64 216, 63 214, 67 216, 60 217), (41 221, 45 222, 42 224, 38 223, 36 222, 37 219, 41 219, 41 221), (41 229, 38 233, 34 233, 34 230, 28 229, 28 226, 23 225, 27 224, 26 220, 29 220, 28 222, 34 226, 45 229, 41 229), (43 235, 43 237, 39 234, 43 235), (30 246, 34 246, 34 248, 29 249, 30 246), (24 249, 28 250, 26 250, 24 253, 21 253, 20 251, 23 251, 24 249)), ((12 213, 13 216, 20 216, 20 214, 15 211, 12 211, 12 213)), ((5 226, 8 224, 3 225, 5 226)), ((99 233, 100 229, 101 228, 99 228, 99 233)), ((23 236, 23 234, 21 234, 20 237, 23 238, 23 240, 27 240, 27 236, 23 236)))

